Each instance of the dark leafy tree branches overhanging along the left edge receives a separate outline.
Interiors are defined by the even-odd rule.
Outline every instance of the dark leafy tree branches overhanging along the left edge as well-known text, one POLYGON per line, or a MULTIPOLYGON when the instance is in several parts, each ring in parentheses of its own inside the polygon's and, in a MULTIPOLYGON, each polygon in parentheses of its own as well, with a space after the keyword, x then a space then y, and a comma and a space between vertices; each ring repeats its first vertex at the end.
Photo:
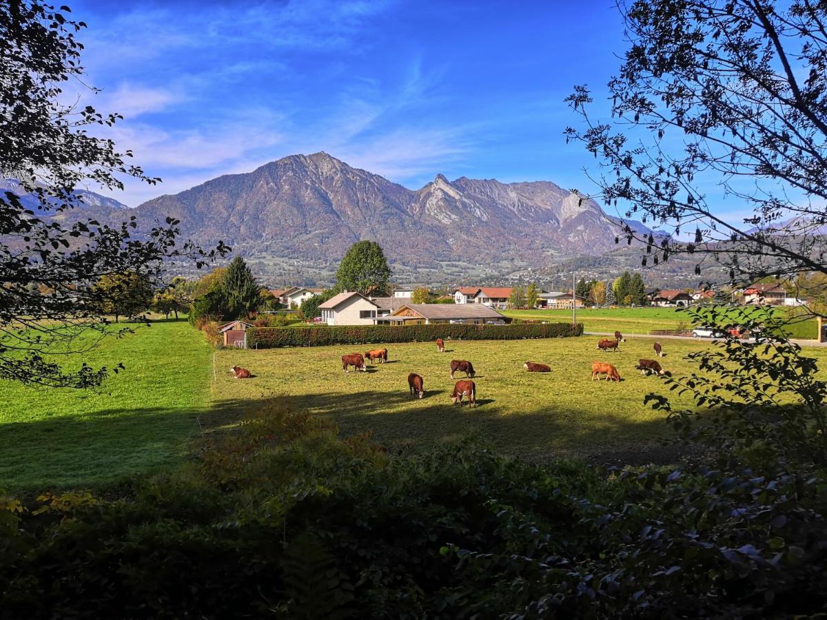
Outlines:
POLYGON ((107 329, 102 308, 120 301, 107 297, 118 291, 96 283, 135 274, 156 284, 165 259, 201 267, 227 248, 180 244, 172 218, 136 236, 135 217, 109 225, 72 211, 83 202, 78 184, 115 189, 123 177, 160 179, 127 164, 131 152, 103 136, 119 115, 66 103, 64 84, 85 78, 76 39, 85 25, 68 12, 36 0, 0 2, 0 177, 19 181, 15 191, 0 191, 0 379, 84 388, 108 370, 64 370, 52 354, 85 351, 98 341, 79 338, 90 330, 128 331, 107 329), (26 206, 31 201, 36 207, 26 206))

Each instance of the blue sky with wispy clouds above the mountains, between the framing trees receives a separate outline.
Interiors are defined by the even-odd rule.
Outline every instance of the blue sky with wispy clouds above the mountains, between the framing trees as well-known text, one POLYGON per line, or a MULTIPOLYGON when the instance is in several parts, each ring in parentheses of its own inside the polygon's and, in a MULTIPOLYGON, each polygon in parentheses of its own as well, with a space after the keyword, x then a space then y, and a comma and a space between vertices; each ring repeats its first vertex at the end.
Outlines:
POLYGON ((110 135, 164 179, 112 194, 130 206, 318 150, 409 188, 442 173, 588 191, 563 99, 624 50, 610 0, 71 6, 93 103, 126 117, 110 135))

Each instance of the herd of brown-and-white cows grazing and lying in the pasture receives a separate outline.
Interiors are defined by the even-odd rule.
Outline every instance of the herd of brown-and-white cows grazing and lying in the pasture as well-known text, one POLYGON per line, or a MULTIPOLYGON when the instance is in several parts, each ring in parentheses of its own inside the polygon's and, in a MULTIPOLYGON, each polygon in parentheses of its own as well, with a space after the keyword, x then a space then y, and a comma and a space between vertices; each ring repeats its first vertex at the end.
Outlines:
MULTIPOLYGON (((619 331, 615 331, 614 340, 609 340, 608 338, 600 339, 597 343, 597 349, 599 351, 617 352, 619 351, 620 343, 625 341, 626 339, 623 337, 623 334, 619 331)), ((653 349, 655 351, 655 355, 658 357, 663 356, 663 349, 660 342, 655 342, 653 349)), ((442 338, 437 338, 437 351, 440 353, 445 352, 445 342, 442 341, 442 338)), ((347 373, 348 367, 353 366, 354 371, 361 370, 362 372, 367 372, 365 360, 370 360, 371 363, 378 362, 380 364, 384 364, 388 360, 388 350, 371 349, 370 351, 366 351, 364 355, 361 353, 342 355, 342 370, 347 373)), ((638 360, 638 365, 636 368, 640 370, 641 374, 666 374, 657 360, 638 360)), ((536 373, 547 373, 552 370, 545 364, 538 364, 537 362, 530 361, 523 364, 523 369, 528 372, 536 373)), ((254 376, 249 370, 246 370, 246 368, 241 368, 240 366, 232 366, 232 369, 230 370, 232 371, 235 379, 250 379, 254 376)), ((466 379, 457 381, 457 384, 454 385, 454 389, 451 393, 451 402, 454 404, 459 403, 460 406, 462 406, 462 400, 463 398, 466 398, 469 406, 476 407, 476 384, 474 384, 471 380, 476 374, 474 365, 472 365, 468 360, 452 360, 452 380, 454 379, 454 374, 457 372, 464 372, 466 374, 466 379)), ((593 381, 595 379, 600 379, 601 374, 605 374, 606 381, 620 382, 620 374, 613 364, 608 364, 597 360, 593 361, 591 363, 591 379, 593 381)), ((425 394, 423 386, 424 379, 422 376, 416 373, 411 373, 408 375, 408 387, 411 396, 414 398, 417 396, 418 398, 423 398, 425 394)))

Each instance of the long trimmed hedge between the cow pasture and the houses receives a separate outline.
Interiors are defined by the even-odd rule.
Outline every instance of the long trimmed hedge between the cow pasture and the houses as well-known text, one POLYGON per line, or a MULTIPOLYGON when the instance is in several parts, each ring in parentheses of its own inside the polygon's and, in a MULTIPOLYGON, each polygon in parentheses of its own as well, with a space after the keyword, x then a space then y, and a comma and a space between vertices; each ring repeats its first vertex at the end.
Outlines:
POLYGON ((521 325, 353 325, 342 327, 251 327, 249 348, 277 346, 361 345, 380 342, 425 342, 443 340, 523 340, 580 336, 583 324, 534 323, 521 325))

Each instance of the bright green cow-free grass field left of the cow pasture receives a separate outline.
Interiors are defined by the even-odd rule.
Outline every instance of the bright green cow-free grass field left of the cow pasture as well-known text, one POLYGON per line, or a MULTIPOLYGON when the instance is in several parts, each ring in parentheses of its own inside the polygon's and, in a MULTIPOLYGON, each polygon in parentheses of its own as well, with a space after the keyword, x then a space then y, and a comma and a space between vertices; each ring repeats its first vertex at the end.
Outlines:
POLYGON ((0 488, 102 484, 179 459, 208 406, 211 356, 186 322, 158 322, 84 355, 127 367, 99 391, 0 382, 0 488))

